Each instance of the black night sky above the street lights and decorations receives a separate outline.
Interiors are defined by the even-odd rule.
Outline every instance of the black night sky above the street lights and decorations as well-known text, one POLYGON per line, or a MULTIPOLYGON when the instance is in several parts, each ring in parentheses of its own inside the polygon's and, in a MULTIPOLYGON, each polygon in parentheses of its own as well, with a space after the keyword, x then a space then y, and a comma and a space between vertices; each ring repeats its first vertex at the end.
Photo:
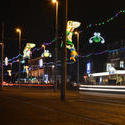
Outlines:
MULTIPOLYGON (((106 42, 124 39, 125 15, 120 15, 112 23, 86 30, 87 24, 95 24, 125 9, 125 1, 118 0, 69 0, 68 19, 81 22, 80 50, 88 52, 89 37, 95 31, 101 32, 106 42), (85 44, 84 44, 85 43, 85 44)), ((64 19, 64 1, 59 0, 59 34, 62 34, 64 19)), ((1 0, 0 23, 5 23, 5 56, 18 54, 18 34, 16 27, 22 29, 22 48, 26 42, 35 42, 37 46, 49 42, 55 34, 55 10, 51 0, 1 0)), ((1 33, 1 27, 0 27, 1 33)), ((1 37, 1 35, 0 35, 1 37)), ((1 38, 0 38, 1 39, 1 38)), ((84 53, 83 53, 84 55, 84 53)))

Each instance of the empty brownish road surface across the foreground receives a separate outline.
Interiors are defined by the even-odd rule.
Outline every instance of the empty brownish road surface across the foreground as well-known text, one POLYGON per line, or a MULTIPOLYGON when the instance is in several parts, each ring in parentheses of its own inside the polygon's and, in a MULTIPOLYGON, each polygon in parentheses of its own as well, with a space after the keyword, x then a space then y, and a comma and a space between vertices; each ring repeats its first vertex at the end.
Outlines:
POLYGON ((52 89, 3 88, 0 125, 124 125, 125 95, 52 89))

